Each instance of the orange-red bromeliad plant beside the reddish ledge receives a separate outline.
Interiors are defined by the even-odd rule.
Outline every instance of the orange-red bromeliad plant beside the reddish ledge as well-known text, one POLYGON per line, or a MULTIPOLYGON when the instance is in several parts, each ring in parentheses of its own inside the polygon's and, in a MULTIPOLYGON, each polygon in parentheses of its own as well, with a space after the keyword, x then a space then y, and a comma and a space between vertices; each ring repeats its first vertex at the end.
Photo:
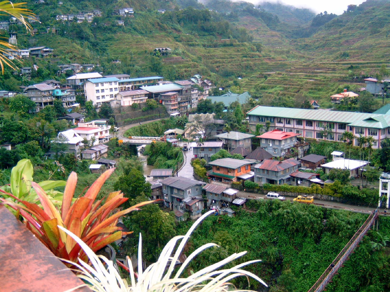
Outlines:
MULTIPOLYGON (((91 250, 96 252, 113 241, 120 239, 122 234, 131 233, 122 232, 121 227, 116 226, 119 217, 154 202, 141 202, 112 214, 128 198, 124 198, 121 191, 110 193, 104 203, 102 202, 103 200, 96 201, 96 196, 113 171, 114 168, 108 169, 101 174, 85 195, 77 198, 73 204, 77 174, 72 172, 66 182, 60 209, 54 206, 43 188, 35 182, 32 182, 32 187, 41 201, 42 208, 37 204, 21 200, 12 193, 7 195, 12 197, 16 203, 3 198, 0 198, 0 200, 15 209, 17 216, 23 217, 26 227, 57 257, 70 262, 76 262, 78 258, 87 260, 87 255, 80 245, 66 232, 59 229, 58 226, 76 234, 91 250)), ((69 263, 69 266, 72 266, 72 264, 69 263)))

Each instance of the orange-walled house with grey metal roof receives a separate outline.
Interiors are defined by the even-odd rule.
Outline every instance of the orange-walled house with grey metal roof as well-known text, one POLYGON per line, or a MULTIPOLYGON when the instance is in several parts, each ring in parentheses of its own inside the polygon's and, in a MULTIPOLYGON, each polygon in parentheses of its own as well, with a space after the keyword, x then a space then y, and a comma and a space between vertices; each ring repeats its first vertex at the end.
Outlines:
POLYGON ((207 172, 207 176, 211 178, 211 181, 228 184, 240 179, 250 179, 254 176, 250 173, 251 164, 250 161, 234 158, 217 159, 209 162, 213 169, 207 172))

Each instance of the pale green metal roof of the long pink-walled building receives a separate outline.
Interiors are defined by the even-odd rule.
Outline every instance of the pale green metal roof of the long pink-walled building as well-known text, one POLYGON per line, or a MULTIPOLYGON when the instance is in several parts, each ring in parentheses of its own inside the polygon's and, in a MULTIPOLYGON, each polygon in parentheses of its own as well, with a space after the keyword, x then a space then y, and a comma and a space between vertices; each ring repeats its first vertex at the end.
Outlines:
POLYGON ((370 117, 382 116, 390 124, 389 114, 353 113, 349 111, 326 111, 324 109, 294 109, 287 107, 257 106, 248 111, 248 116, 268 116, 299 120, 355 123, 370 117))

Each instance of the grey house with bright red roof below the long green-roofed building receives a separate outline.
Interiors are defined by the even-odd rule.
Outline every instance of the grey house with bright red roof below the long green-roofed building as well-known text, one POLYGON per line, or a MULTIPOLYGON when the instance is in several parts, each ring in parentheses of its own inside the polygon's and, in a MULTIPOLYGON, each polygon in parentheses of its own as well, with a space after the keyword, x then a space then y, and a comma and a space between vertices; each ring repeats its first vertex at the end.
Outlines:
POLYGON ((299 134, 294 132, 284 132, 281 130, 272 130, 266 132, 256 138, 260 138, 260 147, 271 153, 273 156, 284 156, 289 152, 296 142, 296 136, 299 134))

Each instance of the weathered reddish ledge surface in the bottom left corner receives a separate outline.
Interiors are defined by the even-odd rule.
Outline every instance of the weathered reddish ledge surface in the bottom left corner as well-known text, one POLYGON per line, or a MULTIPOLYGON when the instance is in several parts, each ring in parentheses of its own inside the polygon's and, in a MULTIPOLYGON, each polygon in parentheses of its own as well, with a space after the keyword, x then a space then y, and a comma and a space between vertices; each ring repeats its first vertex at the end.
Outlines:
MULTIPOLYGON (((58 292, 83 282, 0 205, 1 291, 58 292)), ((87 287, 76 292, 91 291, 87 287)))

